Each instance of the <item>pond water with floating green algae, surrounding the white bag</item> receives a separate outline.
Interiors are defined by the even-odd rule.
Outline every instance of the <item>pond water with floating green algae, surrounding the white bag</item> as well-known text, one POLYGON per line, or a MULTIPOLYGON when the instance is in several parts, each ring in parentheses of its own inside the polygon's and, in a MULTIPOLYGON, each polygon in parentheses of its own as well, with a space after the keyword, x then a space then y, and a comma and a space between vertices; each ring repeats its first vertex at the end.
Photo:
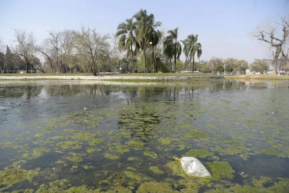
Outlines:
POLYGON ((0 84, 0 106, 11 106, 0 110, 0 177, 30 171, 0 180, 0 191, 146 192, 153 182, 170 191, 288 192, 288 81, 176 84, 0 84), (173 157, 184 155, 213 178, 181 173, 173 157))

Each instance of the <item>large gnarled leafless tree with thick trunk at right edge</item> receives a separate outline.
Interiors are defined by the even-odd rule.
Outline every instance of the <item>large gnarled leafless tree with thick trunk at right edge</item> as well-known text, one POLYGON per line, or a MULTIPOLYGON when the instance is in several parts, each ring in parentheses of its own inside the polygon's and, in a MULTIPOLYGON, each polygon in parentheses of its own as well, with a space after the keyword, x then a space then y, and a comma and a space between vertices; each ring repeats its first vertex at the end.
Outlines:
POLYGON ((270 45, 273 51, 273 72, 272 75, 277 74, 278 70, 278 58, 282 52, 285 42, 288 39, 289 35, 289 17, 281 18, 281 23, 276 23, 268 21, 264 23, 262 27, 257 26, 256 30, 252 32, 252 36, 258 40, 264 41, 270 45), (280 34, 279 27, 282 28, 280 34))

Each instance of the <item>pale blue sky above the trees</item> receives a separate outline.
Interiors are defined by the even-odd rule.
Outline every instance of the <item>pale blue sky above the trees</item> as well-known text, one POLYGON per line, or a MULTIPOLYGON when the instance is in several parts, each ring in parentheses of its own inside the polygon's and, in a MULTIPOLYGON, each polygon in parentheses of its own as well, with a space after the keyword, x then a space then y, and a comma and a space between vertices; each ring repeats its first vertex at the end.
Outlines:
MULTIPOLYGON (((38 40, 47 30, 79 29, 81 24, 99 33, 114 33, 117 25, 140 9, 155 15, 162 29, 179 27, 179 39, 198 34, 201 59, 211 57, 264 58, 268 50, 248 36, 266 17, 289 14, 288 0, 0 0, 0 37, 11 44, 13 29, 32 31, 38 40)), ((182 55, 181 59, 184 59, 182 55)))

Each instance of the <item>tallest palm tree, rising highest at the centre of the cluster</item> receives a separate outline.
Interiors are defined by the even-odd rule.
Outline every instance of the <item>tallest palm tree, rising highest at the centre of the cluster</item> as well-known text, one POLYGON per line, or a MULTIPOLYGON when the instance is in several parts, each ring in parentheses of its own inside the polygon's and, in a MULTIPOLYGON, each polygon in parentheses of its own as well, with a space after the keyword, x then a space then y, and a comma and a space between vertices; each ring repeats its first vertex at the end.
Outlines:
POLYGON ((154 23, 153 14, 148 15, 147 10, 139 10, 133 18, 136 18, 136 39, 144 52, 144 72, 146 72, 145 51, 150 44, 151 26, 154 23))

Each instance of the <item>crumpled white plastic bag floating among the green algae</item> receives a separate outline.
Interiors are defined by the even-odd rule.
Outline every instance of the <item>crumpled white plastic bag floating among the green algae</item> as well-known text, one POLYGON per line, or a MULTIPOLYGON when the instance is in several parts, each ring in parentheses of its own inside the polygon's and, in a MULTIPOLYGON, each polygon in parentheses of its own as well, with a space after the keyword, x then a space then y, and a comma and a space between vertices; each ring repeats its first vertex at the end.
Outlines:
POLYGON ((180 159, 184 171, 193 176, 198 177, 212 177, 210 172, 202 164, 200 160, 193 157, 182 157, 180 159))

